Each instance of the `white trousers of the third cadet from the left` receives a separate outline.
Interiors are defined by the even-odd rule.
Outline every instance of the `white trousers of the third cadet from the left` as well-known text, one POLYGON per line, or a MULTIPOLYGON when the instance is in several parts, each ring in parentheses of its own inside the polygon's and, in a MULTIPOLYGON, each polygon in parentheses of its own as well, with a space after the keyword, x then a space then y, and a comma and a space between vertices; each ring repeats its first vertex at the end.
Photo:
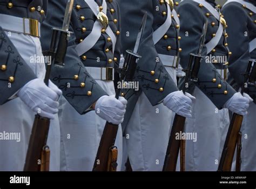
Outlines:
MULTIPOLYGON (((176 69, 166 67, 166 70, 177 83, 176 69)), ((163 104, 152 106, 142 92, 126 126, 123 141, 133 171, 163 169, 171 124, 172 111, 163 104)), ((126 160, 127 157, 123 164, 126 160)))

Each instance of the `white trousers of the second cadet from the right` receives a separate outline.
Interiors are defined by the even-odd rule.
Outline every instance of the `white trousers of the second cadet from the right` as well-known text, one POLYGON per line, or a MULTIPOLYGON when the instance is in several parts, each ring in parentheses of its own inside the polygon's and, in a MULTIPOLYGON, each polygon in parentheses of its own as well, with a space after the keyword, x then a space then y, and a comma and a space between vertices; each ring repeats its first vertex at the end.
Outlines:
POLYGON ((185 132, 197 134, 197 139, 186 140, 186 171, 217 171, 230 123, 228 110, 218 110, 198 87, 192 95, 197 99, 185 132))

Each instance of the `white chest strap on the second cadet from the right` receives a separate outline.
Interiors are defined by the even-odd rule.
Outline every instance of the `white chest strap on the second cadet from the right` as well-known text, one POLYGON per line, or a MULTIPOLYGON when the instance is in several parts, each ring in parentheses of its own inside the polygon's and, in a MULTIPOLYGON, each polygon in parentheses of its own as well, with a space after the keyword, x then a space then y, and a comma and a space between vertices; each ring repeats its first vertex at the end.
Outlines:
MULTIPOLYGON (((210 3, 207 3, 206 1, 204 0, 193 0, 194 2, 197 2, 199 4, 202 4, 204 5, 204 7, 209 11, 211 12, 211 14, 218 20, 220 21, 220 14, 219 12, 213 8, 213 6, 210 4, 210 3)), ((205 46, 207 48, 207 54, 209 52, 211 52, 215 46, 218 45, 219 41, 220 41, 220 38, 221 36, 223 35, 223 25, 219 22, 219 28, 217 30, 217 32, 215 33, 215 37, 213 37, 210 42, 206 43, 205 46)))

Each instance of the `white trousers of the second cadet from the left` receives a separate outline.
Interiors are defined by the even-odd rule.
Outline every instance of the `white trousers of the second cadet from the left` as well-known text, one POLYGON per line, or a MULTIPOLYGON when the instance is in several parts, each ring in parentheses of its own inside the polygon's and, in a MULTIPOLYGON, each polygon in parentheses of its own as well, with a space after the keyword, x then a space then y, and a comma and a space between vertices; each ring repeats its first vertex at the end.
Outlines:
MULTIPOLYGON (((97 80, 97 83, 108 95, 114 95, 113 82, 97 80)), ((60 170, 92 171, 106 120, 100 118, 95 111, 80 115, 64 97, 61 97, 59 102, 59 123, 62 136, 60 170)), ((117 170, 119 171, 123 153, 121 126, 118 128, 115 145, 118 147, 117 170)))

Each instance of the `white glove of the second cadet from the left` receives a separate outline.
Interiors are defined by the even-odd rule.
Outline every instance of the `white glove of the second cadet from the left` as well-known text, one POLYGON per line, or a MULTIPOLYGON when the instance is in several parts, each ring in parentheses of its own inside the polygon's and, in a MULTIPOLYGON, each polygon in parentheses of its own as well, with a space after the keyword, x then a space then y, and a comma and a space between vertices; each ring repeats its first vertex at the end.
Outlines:
POLYGON ((120 124, 124 120, 127 100, 124 97, 116 99, 112 96, 102 96, 97 100, 95 112, 109 123, 120 124))

